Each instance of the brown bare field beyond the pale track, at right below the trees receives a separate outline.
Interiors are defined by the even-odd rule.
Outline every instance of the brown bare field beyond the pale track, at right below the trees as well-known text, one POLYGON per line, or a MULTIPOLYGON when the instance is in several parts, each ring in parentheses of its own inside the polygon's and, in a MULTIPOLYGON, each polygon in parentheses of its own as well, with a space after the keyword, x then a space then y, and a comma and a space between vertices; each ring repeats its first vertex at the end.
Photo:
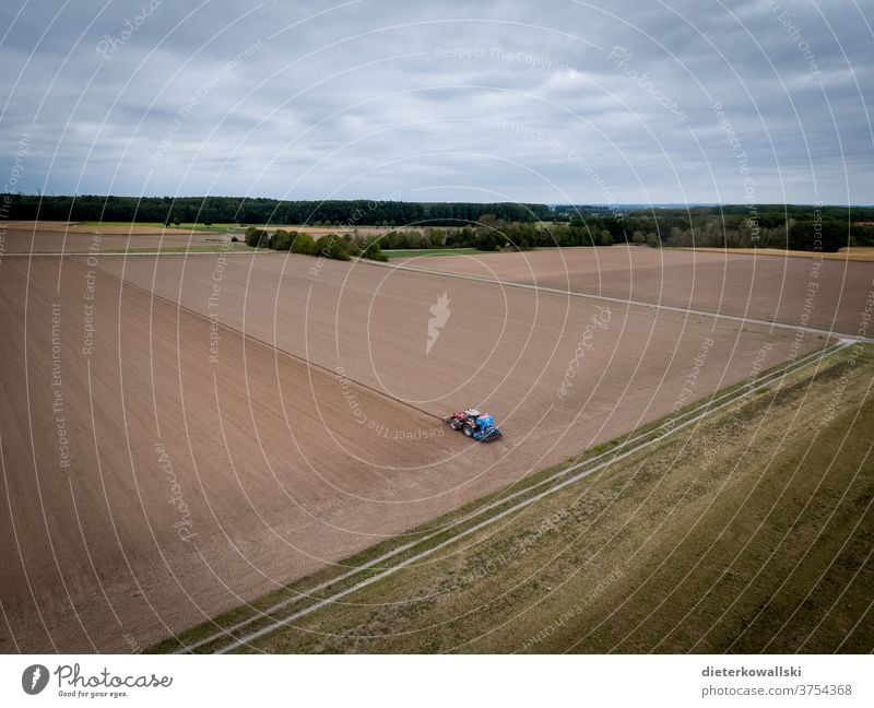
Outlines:
POLYGON ((874 268, 645 246, 448 256, 393 263, 854 333, 874 268), (811 285, 813 283, 813 285, 811 285), (810 298, 810 312, 805 312, 810 298))

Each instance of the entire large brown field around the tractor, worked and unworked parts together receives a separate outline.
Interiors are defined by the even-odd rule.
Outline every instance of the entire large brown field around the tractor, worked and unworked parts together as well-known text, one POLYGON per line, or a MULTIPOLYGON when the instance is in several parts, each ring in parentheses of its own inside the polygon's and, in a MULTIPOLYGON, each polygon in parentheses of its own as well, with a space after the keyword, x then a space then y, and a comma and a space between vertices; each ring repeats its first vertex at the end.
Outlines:
POLYGON ((102 257, 94 269, 67 258, 58 293, 59 263, 0 262, 0 386, 16 402, 0 411, 7 651, 145 647, 658 417, 684 388, 692 402, 743 379, 763 343, 772 346, 760 365, 772 366, 792 341, 279 253, 102 257), (96 334, 83 355, 90 282, 96 334), (199 314, 152 298, 153 282, 199 314), (426 354, 444 292, 451 316, 426 354), (211 329, 211 315, 250 337, 211 329), (592 349, 579 350, 562 397, 583 342, 592 349), (493 409, 506 437, 436 437, 429 412, 470 404, 493 409))

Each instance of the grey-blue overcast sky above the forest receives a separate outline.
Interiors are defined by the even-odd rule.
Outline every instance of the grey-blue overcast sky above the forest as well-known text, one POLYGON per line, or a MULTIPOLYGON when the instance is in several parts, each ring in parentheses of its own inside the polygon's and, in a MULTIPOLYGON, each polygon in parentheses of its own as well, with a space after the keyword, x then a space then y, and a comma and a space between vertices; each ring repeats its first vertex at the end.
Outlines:
POLYGON ((0 190, 871 204, 873 25, 874 0, 3 0, 0 190))

